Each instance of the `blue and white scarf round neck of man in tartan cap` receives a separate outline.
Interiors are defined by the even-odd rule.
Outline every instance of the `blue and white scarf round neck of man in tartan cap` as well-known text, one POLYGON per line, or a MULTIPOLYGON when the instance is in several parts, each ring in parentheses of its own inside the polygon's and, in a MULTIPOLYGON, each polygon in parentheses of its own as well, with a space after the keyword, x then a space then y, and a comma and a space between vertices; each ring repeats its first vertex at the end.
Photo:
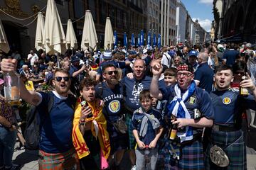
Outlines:
MULTIPOLYGON (((167 106, 169 113, 168 116, 171 117, 171 114, 175 115, 176 118, 191 118, 191 115, 188 113, 188 109, 185 106, 185 102, 190 98, 194 91, 196 90, 195 81, 191 82, 191 85, 186 90, 185 94, 181 96, 181 89, 178 84, 174 86, 174 91, 176 96, 171 101, 169 106, 167 106)), ((190 126, 186 126, 186 132, 178 132, 177 136, 181 139, 181 142, 186 140, 193 139, 193 129, 190 126)))

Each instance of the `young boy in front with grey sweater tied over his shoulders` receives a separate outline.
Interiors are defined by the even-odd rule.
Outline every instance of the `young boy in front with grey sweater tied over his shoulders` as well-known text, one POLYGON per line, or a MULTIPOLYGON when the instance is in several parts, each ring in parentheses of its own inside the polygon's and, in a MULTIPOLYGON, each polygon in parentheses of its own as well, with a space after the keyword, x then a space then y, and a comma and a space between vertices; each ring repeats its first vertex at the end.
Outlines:
POLYGON ((132 132, 137 142, 136 167, 138 170, 156 169, 158 157, 156 143, 163 132, 161 113, 152 108, 149 90, 143 90, 139 94, 139 103, 142 107, 134 111, 132 117, 132 132))

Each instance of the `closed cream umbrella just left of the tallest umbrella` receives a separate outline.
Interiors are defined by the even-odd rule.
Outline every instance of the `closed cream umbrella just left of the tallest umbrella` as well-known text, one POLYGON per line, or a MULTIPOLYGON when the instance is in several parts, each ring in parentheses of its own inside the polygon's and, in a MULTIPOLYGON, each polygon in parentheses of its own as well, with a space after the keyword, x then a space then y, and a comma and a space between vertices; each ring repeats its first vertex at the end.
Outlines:
POLYGON ((44 34, 44 18, 43 18, 43 13, 39 12, 37 23, 36 23, 36 40, 35 40, 36 50, 45 49, 43 45, 43 34, 44 34))

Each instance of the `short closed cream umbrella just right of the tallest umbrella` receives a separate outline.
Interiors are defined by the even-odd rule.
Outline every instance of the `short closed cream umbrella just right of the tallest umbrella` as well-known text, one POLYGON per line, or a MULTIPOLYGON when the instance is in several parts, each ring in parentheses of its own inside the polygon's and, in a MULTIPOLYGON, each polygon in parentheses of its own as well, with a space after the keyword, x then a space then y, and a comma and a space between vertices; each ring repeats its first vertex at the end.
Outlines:
POLYGON ((68 49, 77 49, 78 48, 78 41, 75 37, 75 31, 73 28, 72 21, 68 19, 68 26, 67 26, 67 33, 66 33, 66 48, 68 49))

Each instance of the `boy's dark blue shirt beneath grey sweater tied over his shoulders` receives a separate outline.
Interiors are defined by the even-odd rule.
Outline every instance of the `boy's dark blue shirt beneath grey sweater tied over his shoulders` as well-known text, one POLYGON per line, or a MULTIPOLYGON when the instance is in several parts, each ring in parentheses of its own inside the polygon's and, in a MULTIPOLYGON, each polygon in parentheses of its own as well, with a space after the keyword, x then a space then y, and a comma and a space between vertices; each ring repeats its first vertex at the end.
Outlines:
MULTIPOLYGON (((162 125, 161 113, 158 110, 151 108, 146 113, 149 115, 154 115, 154 117, 159 120, 160 125, 162 125)), ((138 134, 139 134, 139 130, 142 125, 142 118, 144 118, 144 116, 146 116, 146 115, 144 115, 143 113, 138 113, 138 112, 135 112, 134 115, 132 116, 132 130, 137 130, 138 134)), ((148 120, 148 127, 146 130, 146 135, 144 137, 139 137, 139 140, 144 142, 145 145, 149 145, 150 142, 152 140, 154 140, 154 138, 156 137, 156 132, 157 132, 157 130, 153 129, 151 122, 148 120)))

